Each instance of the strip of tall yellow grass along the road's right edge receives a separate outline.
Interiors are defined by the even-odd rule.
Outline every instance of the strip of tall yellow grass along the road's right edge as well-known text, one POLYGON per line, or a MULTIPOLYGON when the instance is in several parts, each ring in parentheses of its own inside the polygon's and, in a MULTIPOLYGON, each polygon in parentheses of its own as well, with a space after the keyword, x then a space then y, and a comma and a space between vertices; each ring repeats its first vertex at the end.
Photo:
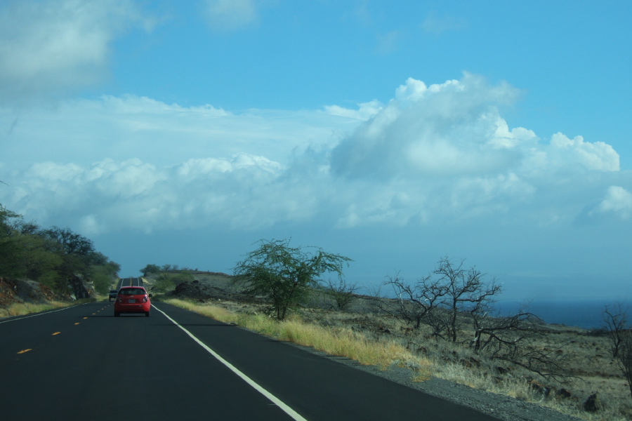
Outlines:
POLYGON ((371 341, 362 333, 348 328, 323 328, 304 323, 298 316, 286 321, 276 321, 261 314, 230 312, 223 307, 199 305, 184 300, 170 299, 165 302, 191 310, 225 323, 254 330, 271 338, 312 347, 329 355, 344 356, 360 364, 378 366, 385 370, 391 364, 412 370, 414 380, 430 378, 430 361, 414 356, 402 345, 388 341, 371 341))

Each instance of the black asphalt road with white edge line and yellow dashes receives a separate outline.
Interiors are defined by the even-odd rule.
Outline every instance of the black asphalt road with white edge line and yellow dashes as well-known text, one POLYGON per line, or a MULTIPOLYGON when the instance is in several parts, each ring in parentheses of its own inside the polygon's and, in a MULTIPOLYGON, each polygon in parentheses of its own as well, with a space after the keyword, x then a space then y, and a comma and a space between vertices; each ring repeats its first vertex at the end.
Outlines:
POLYGON ((165 303, 113 313, 0 321, 2 420, 495 420, 165 303))

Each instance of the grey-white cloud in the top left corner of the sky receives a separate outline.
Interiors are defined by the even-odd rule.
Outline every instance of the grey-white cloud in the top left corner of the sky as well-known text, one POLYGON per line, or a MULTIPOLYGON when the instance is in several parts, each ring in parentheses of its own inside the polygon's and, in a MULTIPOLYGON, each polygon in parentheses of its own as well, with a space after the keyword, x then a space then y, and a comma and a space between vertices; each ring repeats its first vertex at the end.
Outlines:
POLYGON ((131 0, 7 0, 0 4, 0 98, 24 103, 103 79, 110 43, 150 29, 131 0))

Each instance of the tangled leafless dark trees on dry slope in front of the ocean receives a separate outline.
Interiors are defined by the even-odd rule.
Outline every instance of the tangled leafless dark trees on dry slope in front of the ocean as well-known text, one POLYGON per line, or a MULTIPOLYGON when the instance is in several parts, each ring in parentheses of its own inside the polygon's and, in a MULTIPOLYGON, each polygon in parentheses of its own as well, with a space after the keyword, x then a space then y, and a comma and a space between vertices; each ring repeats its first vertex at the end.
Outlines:
POLYGON ((546 378, 567 378, 558 354, 534 346, 547 334, 541 320, 522 310, 513 316, 494 315, 501 286, 463 263, 442 258, 433 272, 413 284, 399 275, 390 277, 385 284, 393 288, 396 298, 377 297, 376 303, 414 330, 427 326, 435 338, 467 343, 473 352, 490 359, 546 378))

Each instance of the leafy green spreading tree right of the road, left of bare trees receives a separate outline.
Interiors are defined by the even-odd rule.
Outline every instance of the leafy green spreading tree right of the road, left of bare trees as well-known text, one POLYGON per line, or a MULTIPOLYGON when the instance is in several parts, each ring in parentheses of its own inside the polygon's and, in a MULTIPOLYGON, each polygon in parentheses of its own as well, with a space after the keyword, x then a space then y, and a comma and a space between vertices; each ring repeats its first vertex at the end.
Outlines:
POLYGON ((318 276, 334 272, 342 279, 343 265, 351 261, 342 255, 311 247, 313 253, 290 247, 289 240, 260 240, 259 247, 233 268, 237 282, 246 293, 270 300, 270 314, 279 320, 308 297, 318 286, 318 276))

